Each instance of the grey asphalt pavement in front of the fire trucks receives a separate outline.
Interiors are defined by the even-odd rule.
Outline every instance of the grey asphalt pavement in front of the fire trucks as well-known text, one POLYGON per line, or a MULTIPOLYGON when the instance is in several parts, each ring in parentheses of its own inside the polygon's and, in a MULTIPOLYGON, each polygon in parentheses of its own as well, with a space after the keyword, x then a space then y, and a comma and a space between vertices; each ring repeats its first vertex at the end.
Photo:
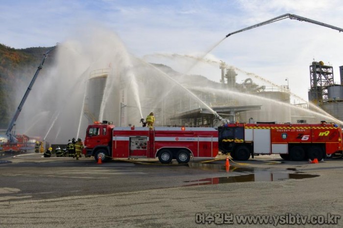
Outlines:
POLYGON ((0 227, 342 227, 342 159, 258 156, 230 160, 228 169, 225 159, 162 165, 2 156, 0 227), (237 217, 259 215, 268 222, 237 217))

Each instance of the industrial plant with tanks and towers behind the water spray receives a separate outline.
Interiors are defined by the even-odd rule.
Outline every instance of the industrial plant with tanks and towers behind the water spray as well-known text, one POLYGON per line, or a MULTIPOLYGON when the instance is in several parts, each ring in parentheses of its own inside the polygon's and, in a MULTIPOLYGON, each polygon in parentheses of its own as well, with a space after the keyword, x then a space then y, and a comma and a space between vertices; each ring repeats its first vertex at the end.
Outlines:
POLYGON ((230 122, 318 123, 323 118, 309 112, 317 112, 311 103, 343 120, 343 66, 337 85, 331 66, 312 63, 310 105, 291 104, 288 85, 258 85, 252 78, 237 83, 235 69, 224 62, 220 82, 182 75, 164 65, 153 68, 155 72, 142 69, 135 77, 121 77, 112 68, 93 71, 83 110, 89 123, 106 119, 116 126, 138 126, 150 112, 155 126, 214 126, 218 121, 214 112, 230 122))

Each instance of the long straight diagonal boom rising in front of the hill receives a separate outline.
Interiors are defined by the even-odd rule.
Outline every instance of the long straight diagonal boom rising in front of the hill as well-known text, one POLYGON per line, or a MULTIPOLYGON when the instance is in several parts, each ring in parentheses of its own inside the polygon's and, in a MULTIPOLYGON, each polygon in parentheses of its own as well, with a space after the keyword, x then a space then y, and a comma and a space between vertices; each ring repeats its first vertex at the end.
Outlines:
POLYGON ((26 90, 26 92, 25 92, 25 94, 24 94, 24 97, 23 97, 22 101, 20 102, 20 104, 19 104, 19 106, 18 106, 18 109, 17 109, 16 113, 14 114, 14 116, 13 116, 13 118, 12 118, 12 120, 11 120, 9 126, 8 126, 8 129, 7 129, 7 131, 6 131, 6 136, 8 137, 8 139, 9 139, 10 142, 14 142, 14 141, 15 141, 15 137, 12 136, 12 134, 11 134, 12 128, 13 128, 13 126, 14 126, 14 123, 17 121, 18 116, 19 116, 20 112, 21 112, 22 109, 23 109, 23 106, 24 106, 24 104, 25 104, 26 98, 27 98, 28 94, 30 93, 30 91, 32 90, 32 86, 33 86, 33 84, 34 84, 35 81, 36 81, 36 78, 37 78, 37 76, 38 76, 38 74, 39 74, 39 71, 43 68, 43 64, 44 64, 44 62, 45 62, 45 59, 48 57, 48 54, 50 53, 50 51, 52 51, 55 47, 56 47, 56 46, 51 47, 51 48, 44 54, 44 57, 43 57, 43 59, 42 59, 42 62, 39 64, 39 66, 38 66, 38 68, 37 68, 37 70, 36 70, 36 73, 34 74, 32 80, 31 80, 30 85, 27 87, 27 90, 26 90))

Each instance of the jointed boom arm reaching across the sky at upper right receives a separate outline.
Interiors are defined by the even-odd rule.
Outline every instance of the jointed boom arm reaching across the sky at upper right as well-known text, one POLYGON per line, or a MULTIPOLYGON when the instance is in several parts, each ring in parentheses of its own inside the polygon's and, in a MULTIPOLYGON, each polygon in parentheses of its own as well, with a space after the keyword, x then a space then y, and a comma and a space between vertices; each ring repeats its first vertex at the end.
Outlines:
POLYGON ((259 26, 262 26, 262 25, 265 25, 265 24, 269 24, 269 23, 273 23, 273 22, 277 22, 277 21, 280 21, 280 20, 283 20, 283 19, 286 19, 286 18, 289 18, 289 19, 295 19, 295 20, 298 20, 300 22, 302 21, 305 21, 305 22, 308 22, 308 23, 314 23, 314 24, 318 24, 318 25, 321 25, 321 26, 325 26, 325 27, 328 27, 328 28, 332 28, 332 29, 336 29, 340 32, 343 32, 343 29, 342 28, 339 28, 339 27, 336 27, 336 26, 332 26, 330 24, 326 24, 326 23, 321 23, 321 22, 317 22, 315 20, 312 20, 312 19, 308 19, 308 18, 304 18, 304 17, 301 17, 301 16, 297 16, 295 14, 283 14, 281 16, 278 16, 276 18, 272 18, 268 21, 265 21, 265 22, 262 22, 262 23, 258 23, 258 24, 254 24, 252 26, 249 26, 249 27, 246 27, 246 28, 243 28, 243 29, 240 29, 240 30, 237 30, 235 32, 231 32, 229 34, 227 34, 225 36, 225 38, 233 35, 233 34, 236 34, 236 33, 239 33, 239 32, 243 32, 243 31, 246 31, 246 30, 249 30, 249 29, 252 29, 252 28, 256 28, 256 27, 259 27, 259 26))

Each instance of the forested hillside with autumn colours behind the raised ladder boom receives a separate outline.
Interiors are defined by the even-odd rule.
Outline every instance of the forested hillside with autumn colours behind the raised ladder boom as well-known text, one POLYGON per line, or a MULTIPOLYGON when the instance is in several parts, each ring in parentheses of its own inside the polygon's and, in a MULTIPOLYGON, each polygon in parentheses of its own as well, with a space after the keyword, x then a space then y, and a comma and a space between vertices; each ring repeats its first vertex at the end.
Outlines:
MULTIPOLYGON (((0 128, 6 129, 13 118, 13 114, 19 103, 15 101, 13 91, 18 83, 25 83, 27 86, 33 78, 44 53, 50 47, 29 47, 15 49, 0 44, 0 128)), ((53 53, 49 54, 49 58, 53 53)), ((44 64, 49 65, 50 60, 44 64)), ((23 93, 24 95, 24 93, 23 93)))

